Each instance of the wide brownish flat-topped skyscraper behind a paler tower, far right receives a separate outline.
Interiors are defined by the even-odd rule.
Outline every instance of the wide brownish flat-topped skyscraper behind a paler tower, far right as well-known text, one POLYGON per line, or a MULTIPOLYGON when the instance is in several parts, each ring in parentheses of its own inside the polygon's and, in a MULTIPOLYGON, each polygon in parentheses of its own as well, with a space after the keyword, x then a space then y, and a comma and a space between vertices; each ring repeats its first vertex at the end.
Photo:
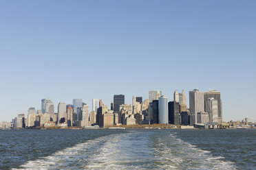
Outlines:
POLYGON ((222 123, 222 99, 220 97, 220 91, 217 90, 209 90, 207 92, 204 92, 204 100, 213 98, 217 100, 217 119, 218 123, 222 123))

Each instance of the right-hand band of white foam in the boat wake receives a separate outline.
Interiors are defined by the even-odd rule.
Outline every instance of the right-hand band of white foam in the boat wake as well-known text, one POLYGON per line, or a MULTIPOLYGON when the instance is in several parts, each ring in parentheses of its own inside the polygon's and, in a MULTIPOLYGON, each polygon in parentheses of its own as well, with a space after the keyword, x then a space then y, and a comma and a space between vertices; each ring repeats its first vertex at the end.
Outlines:
POLYGON ((173 134, 169 138, 156 138, 155 156, 160 169, 236 169, 233 162, 213 156, 210 151, 198 149, 173 134))

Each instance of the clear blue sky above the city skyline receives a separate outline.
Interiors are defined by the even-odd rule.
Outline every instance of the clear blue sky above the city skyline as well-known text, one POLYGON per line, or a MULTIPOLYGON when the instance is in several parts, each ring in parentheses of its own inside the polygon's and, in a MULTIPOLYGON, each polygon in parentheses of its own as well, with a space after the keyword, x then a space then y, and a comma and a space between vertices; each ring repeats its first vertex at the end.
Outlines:
POLYGON ((256 121, 256 1, 0 1, 0 122, 41 99, 220 90, 223 120, 256 121))

